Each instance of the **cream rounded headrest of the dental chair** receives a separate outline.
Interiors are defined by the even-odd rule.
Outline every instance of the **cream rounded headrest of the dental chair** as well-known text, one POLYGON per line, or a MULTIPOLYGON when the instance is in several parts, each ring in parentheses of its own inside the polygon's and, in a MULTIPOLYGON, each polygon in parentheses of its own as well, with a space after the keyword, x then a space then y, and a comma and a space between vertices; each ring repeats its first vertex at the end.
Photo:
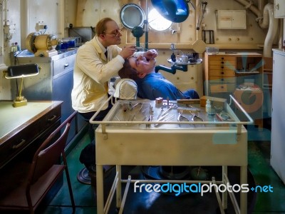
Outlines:
POLYGON ((137 98, 138 86, 133 79, 123 78, 115 85, 115 98, 122 100, 135 100, 137 98))

